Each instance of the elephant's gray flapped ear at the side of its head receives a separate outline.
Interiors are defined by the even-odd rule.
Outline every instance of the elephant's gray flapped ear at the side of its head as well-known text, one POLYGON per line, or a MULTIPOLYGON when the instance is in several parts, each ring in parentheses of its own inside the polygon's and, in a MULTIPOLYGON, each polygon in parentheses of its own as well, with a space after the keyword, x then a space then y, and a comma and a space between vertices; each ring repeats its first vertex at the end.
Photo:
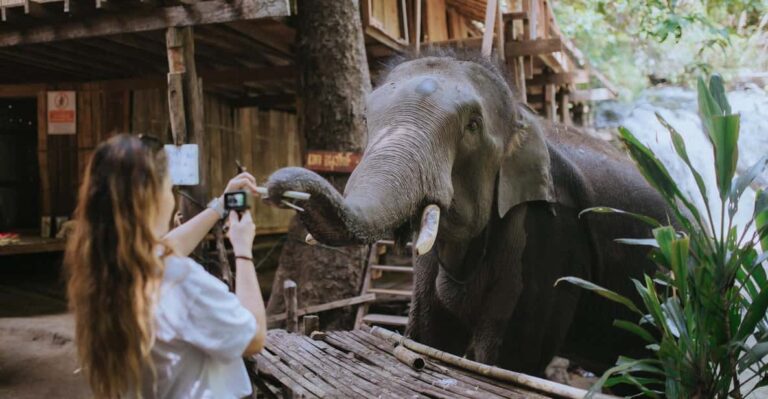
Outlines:
POLYGON ((523 202, 553 202, 555 198, 549 150, 534 118, 525 115, 524 131, 514 133, 520 135, 519 142, 511 140, 501 161, 497 202, 501 218, 523 202))

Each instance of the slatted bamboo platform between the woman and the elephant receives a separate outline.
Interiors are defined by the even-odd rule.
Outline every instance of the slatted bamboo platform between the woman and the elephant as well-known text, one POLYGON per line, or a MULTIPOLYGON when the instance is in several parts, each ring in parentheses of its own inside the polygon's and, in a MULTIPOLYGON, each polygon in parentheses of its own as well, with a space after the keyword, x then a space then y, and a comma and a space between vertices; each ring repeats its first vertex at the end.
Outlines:
MULTIPOLYGON (((479 366, 476 372, 468 371, 452 364, 448 359, 452 355, 428 347, 424 348, 436 356, 410 352, 424 359, 423 369, 417 371, 398 360, 401 357, 395 352, 401 347, 390 339, 382 338, 382 331, 383 334, 400 337, 383 329, 375 334, 367 327, 355 331, 315 332, 312 338, 285 330, 270 330, 265 350, 255 357, 254 380, 259 394, 277 398, 535 399, 583 397, 586 393, 461 359, 479 366), (447 362, 438 360, 438 357, 447 362), (498 375, 497 372, 523 383, 516 385, 490 377, 498 375)), ((402 346, 410 348, 408 343, 402 346)))

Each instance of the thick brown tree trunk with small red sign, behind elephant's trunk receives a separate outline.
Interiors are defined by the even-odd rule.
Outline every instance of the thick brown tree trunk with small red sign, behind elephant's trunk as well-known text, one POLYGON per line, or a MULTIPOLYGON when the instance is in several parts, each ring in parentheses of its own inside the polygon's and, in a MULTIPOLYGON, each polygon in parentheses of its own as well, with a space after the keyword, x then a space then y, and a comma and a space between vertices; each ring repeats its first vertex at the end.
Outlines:
MULTIPOLYGON (((363 148, 365 96, 371 90, 360 9, 356 0, 303 0, 298 3, 297 65, 299 129, 310 150, 355 151, 363 148)), ((347 175, 324 175, 340 191, 347 175)), ((267 306, 284 311, 283 281, 298 285, 299 307, 358 294, 366 247, 309 246, 294 218, 267 306)), ((323 329, 351 328, 352 309, 323 313, 323 329)))

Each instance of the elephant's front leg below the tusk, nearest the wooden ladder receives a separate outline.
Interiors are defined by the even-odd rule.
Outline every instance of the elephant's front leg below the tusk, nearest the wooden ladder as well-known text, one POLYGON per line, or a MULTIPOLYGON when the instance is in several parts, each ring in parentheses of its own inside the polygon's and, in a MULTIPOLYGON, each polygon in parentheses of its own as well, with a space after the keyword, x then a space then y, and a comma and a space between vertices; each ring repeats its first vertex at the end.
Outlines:
POLYGON ((462 356, 468 333, 437 297, 435 280, 438 268, 431 254, 416 260, 413 300, 406 335, 425 345, 462 356))

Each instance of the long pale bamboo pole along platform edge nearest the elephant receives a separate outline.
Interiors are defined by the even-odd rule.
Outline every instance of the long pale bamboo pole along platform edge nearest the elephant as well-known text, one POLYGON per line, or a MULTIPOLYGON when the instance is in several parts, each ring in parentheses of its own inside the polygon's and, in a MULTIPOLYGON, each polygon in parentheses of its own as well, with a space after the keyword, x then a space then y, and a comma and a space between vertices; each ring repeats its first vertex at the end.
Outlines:
MULTIPOLYGON (((398 343, 416 353, 421 353, 422 355, 432 357, 446 364, 450 364, 452 366, 456 366, 464 370, 469 370, 471 372, 474 372, 486 377, 491 377, 498 380, 511 382, 513 384, 517 384, 526 388, 531 388, 533 390, 536 390, 538 392, 542 392, 548 395, 554 395, 556 397, 566 398, 566 399, 582 399, 587 394, 587 391, 583 389, 569 387, 567 385, 558 384, 556 382, 548 381, 543 378, 533 377, 533 376, 522 374, 522 373, 516 373, 514 371, 505 370, 495 366, 489 366, 487 364, 478 363, 469 359, 464 359, 456 355, 452 355, 450 353, 439 351, 435 348, 432 348, 427 345, 420 344, 414 340, 405 338, 402 335, 393 331, 389 331, 385 328, 373 327, 371 328, 371 334, 379 338, 382 338, 384 340, 387 340, 393 343, 398 343)), ((598 393, 598 394, 595 394, 593 398, 611 399, 616 397, 598 393)))

